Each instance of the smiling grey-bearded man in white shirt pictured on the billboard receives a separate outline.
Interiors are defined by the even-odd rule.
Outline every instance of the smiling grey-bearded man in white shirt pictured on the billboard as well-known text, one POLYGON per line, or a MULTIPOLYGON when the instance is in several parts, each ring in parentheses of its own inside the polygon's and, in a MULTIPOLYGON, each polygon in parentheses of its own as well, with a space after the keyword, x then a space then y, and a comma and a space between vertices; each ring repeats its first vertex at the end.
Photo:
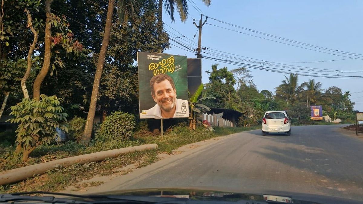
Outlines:
POLYGON ((150 80, 150 90, 155 106, 141 113, 155 118, 179 118, 189 113, 188 101, 176 98, 173 79, 166 74, 158 74, 150 80))

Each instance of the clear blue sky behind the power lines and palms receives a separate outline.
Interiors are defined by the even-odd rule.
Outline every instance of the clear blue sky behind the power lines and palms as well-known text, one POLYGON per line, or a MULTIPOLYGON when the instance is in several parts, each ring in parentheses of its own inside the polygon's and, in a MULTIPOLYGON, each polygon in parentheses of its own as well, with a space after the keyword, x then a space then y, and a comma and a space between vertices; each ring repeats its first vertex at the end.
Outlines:
MULTIPOLYGON (((204 15, 228 23, 325 48, 363 54, 363 1, 212 0, 210 7, 206 7, 201 0, 193 0, 193 2, 201 9, 204 15)), ((200 14, 192 7, 191 0, 188 0, 188 6, 190 15, 196 19, 198 24, 200 14)), ((193 25, 193 19, 189 16, 184 24, 180 23, 178 15, 175 16, 175 19, 176 23, 172 24, 167 14, 164 13, 163 15, 163 21, 167 25, 178 30, 185 37, 193 39, 197 30, 195 25, 193 25)), ((203 17, 204 19, 205 17, 203 17)), ((231 27, 212 19, 208 19, 207 23, 266 37, 231 27)), ((165 28, 176 33, 168 26, 165 26, 165 28)), ((173 34, 170 34, 170 36, 175 37, 173 34)), ((175 39, 189 45, 186 42, 189 40, 186 38, 184 38, 186 41, 183 41, 183 38, 175 39)), ((277 40, 274 38, 270 39, 277 40)), ((198 42, 198 33, 194 38, 194 42, 198 42)), ((175 44, 175 42, 172 43, 175 44)), ((207 48, 272 62, 326 61, 347 58, 284 45, 208 24, 203 26, 201 44, 207 48)), ((195 49, 196 45, 192 44, 191 47, 195 49)), ((176 46, 172 46, 171 49, 165 52, 180 55, 185 55, 186 53, 185 50, 176 46)), ((195 57, 194 53, 191 52, 188 52, 186 55, 188 58, 195 57)), ((208 59, 202 60, 203 83, 208 82, 208 75, 205 73, 205 70, 211 70, 211 65, 215 63, 218 62, 208 59)), ((359 59, 289 65, 319 69, 357 70, 362 71, 362 73, 346 73, 346 75, 363 76, 363 60, 359 59)), ((227 66, 228 70, 239 67, 238 65, 219 62, 219 67, 223 66, 227 66)), ((284 75, 288 75, 263 70, 249 70, 259 91, 267 89, 274 92, 274 87, 281 84, 281 81, 285 79, 284 75)), ((343 93, 344 91, 350 91, 351 93, 363 91, 363 78, 343 79, 299 76, 299 83, 308 81, 309 78, 322 82, 323 89, 327 89, 330 86, 338 86, 342 89, 343 93)), ((352 94, 350 98, 353 102, 356 102, 355 110, 363 111, 363 92, 352 94)))

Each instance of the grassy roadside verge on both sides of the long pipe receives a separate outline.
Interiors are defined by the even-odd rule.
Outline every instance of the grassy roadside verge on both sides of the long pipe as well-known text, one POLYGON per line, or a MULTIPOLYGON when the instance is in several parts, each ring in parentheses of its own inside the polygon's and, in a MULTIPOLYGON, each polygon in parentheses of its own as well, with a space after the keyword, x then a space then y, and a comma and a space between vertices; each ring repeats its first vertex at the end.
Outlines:
POLYGON ((110 175, 115 173, 116 168, 139 162, 138 168, 147 166, 158 160, 158 153, 171 153, 178 147, 191 144, 206 139, 211 139, 221 135, 233 134, 236 132, 258 129, 260 126, 252 127, 215 127, 215 131, 206 130, 204 127, 197 127, 190 131, 185 123, 169 128, 164 138, 154 135, 151 132, 139 129, 134 134, 132 140, 123 142, 95 142, 89 147, 84 147, 75 142, 66 142, 60 145, 40 146, 30 155, 32 158, 27 162, 21 162, 19 156, 13 155, 15 147, 8 147, 0 152, 0 171, 28 166, 31 164, 48 162, 55 159, 70 156, 89 154, 93 152, 112 150, 116 148, 137 146, 141 144, 158 144, 158 149, 132 152, 122 154, 116 158, 107 158, 102 162, 92 162, 86 164, 74 164, 72 166, 46 172, 34 178, 24 181, 0 186, 0 193, 13 193, 19 191, 61 191, 69 185, 74 185, 78 181, 92 178, 96 175, 110 175))

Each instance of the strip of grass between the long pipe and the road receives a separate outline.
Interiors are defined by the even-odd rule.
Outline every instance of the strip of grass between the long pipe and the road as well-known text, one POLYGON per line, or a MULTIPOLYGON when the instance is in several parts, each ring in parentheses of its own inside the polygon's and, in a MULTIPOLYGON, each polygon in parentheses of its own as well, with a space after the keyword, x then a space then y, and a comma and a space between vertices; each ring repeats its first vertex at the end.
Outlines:
POLYGON ((43 175, 24 181, 0 185, 0 193, 15 193, 21 191, 62 191, 65 187, 74 185, 79 181, 92 178, 96 175, 110 175, 117 173, 115 168, 121 168, 135 162, 141 162, 140 167, 157 160, 155 150, 132 152, 109 158, 102 162, 74 164, 72 166, 48 171, 43 175))

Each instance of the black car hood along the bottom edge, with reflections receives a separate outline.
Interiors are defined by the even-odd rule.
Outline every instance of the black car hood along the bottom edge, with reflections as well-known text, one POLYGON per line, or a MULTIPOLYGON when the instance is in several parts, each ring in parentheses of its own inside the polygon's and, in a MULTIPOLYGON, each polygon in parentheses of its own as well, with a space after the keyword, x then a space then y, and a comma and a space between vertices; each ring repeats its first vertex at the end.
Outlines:
POLYGON ((362 201, 343 199, 331 196, 310 195, 310 194, 289 194, 280 192, 278 194, 252 194, 225 191, 212 191, 203 189, 188 188, 147 188, 135 190, 119 190, 102 192, 93 195, 129 195, 129 196, 158 196, 158 197, 174 197, 190 200, 203 201, 226 201, 237 202, 246 201, 250 204, 254 203, 301 203, 301 204, 318 204, 318 203, 362 203, 362 201), (277 202, 280 201, 280 202, 277 202))

